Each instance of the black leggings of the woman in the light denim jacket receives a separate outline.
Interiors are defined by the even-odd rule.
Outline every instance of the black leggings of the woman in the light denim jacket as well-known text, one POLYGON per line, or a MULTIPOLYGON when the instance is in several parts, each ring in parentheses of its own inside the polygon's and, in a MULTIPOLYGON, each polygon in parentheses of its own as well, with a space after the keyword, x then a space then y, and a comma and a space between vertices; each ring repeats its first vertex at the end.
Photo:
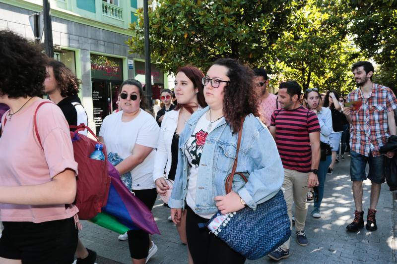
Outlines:
POLYGON ((207 222, 208 219, 197 215, 190 207, 186 214, 186 236, 190 254, 195 264, 241 264, 245 258, 232 250, 225 242, 217 236, 209 233, 208 228, 199 228, 199 223, 207 222))

